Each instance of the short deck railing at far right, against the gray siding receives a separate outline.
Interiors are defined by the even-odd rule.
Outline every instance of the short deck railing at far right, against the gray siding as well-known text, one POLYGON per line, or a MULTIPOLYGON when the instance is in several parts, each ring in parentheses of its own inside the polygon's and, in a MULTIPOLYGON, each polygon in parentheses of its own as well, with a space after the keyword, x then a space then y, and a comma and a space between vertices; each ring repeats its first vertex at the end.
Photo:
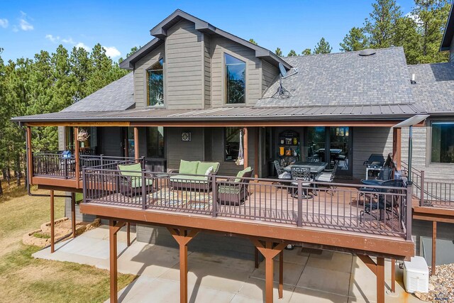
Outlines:
MULTIPOLYGON (((402 163, 408 171, 408 165, 402 163)), ((454 209, 454 180, 442 180, 426 176, 423 170, 411 167, 413 195, 419 206, 454 209)))

